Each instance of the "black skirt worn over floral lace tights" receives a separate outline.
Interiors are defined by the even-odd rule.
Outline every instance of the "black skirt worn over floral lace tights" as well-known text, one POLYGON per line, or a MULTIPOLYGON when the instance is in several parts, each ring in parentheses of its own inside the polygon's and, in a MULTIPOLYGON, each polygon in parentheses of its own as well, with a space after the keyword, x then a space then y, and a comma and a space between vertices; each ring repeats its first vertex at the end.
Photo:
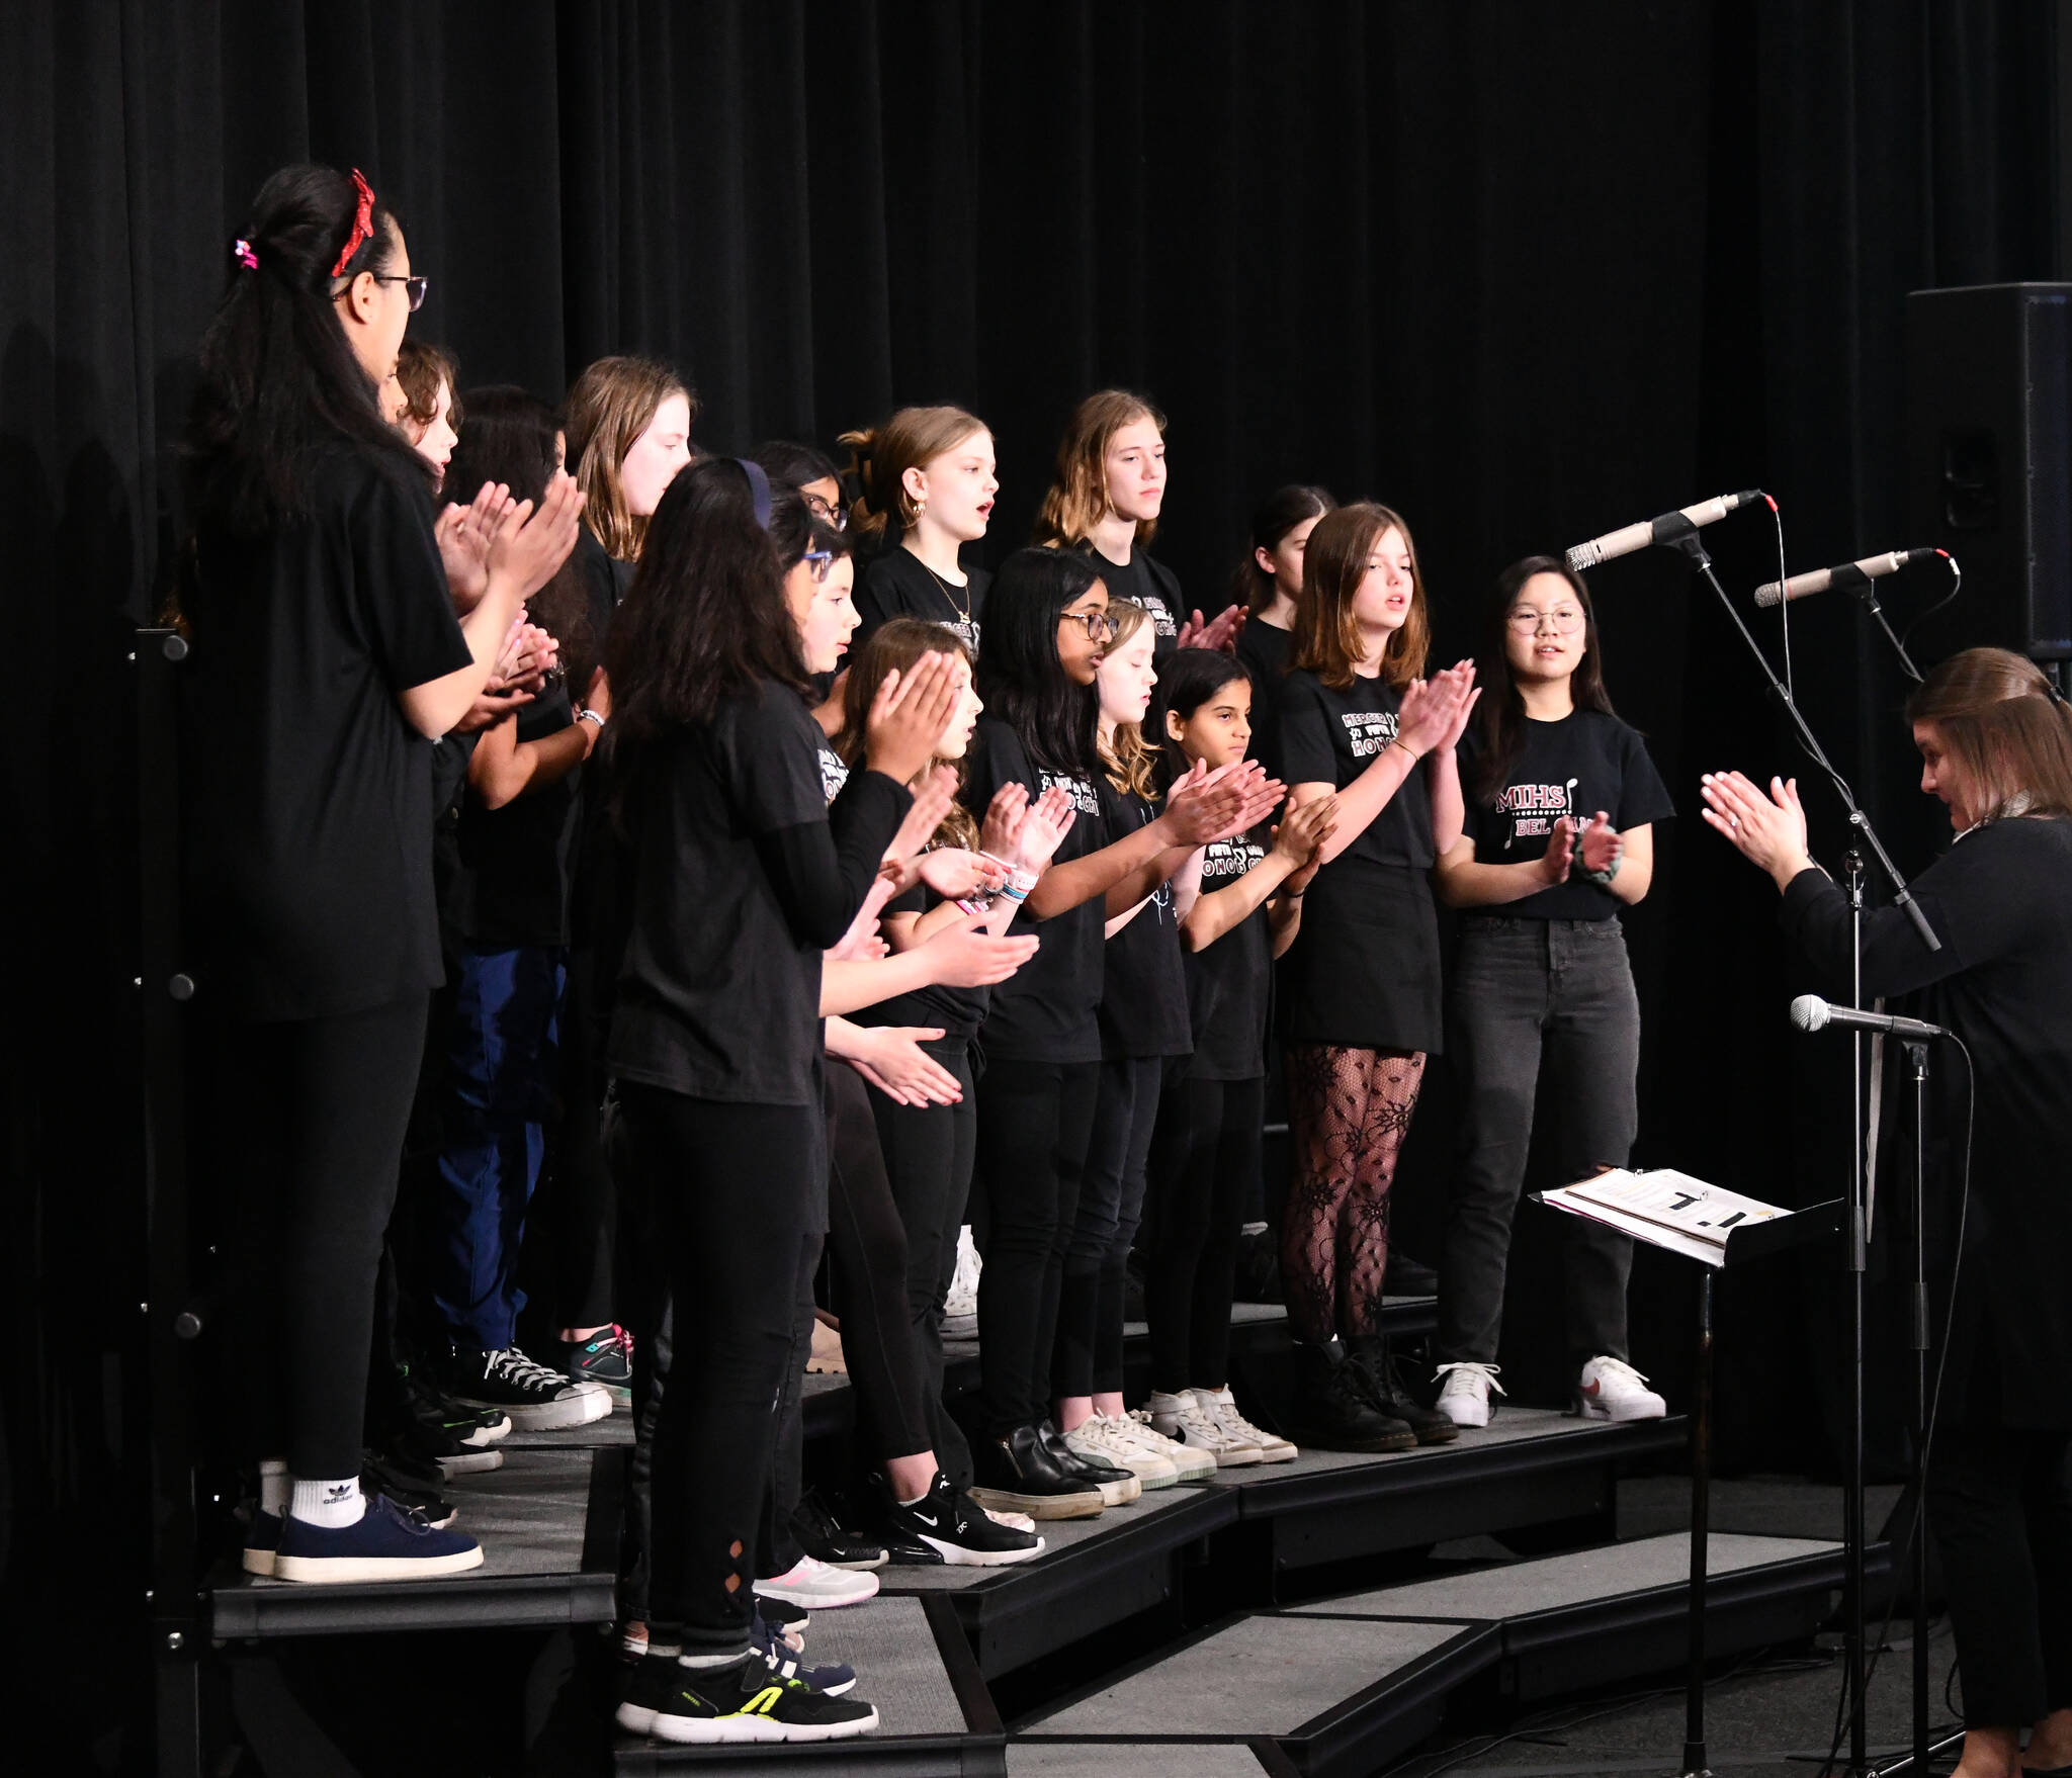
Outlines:
POLYGON ((1438 1055, 1438 910, 1426 872, 1359 858, 1320 870, 1276 986, 1285 1042, 1438 1055))

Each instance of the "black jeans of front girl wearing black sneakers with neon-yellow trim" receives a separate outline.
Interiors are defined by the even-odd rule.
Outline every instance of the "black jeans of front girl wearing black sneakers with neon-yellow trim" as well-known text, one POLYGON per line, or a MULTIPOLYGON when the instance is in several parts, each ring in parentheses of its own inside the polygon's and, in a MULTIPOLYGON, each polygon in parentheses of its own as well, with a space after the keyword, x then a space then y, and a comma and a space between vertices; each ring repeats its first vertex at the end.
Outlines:
MULTIPOLYGON (((827 1167, 821 1107, 719 1105, 620 1084, 642 1208, 667 1279, 667 1382, 653 1407, 649 1621, 684 1647, 748 1647, 798 1277, 827 1167)), ((653 1328, 646 1328, 653 1343, 653 1328)), ((767 1567, 767 1562, 765 1562, 767 1567)))

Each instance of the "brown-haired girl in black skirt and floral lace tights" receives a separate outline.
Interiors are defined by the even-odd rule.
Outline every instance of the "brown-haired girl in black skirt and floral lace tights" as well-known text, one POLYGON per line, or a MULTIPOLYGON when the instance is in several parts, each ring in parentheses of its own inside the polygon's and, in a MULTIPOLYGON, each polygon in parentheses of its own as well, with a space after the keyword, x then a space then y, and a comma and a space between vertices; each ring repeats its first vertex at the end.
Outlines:
POLYGON ((1409 526, 1368 501, 1324 514, 1280 684, 1295 804, 1339 798, 1280 972, 1295 1140, 1280 1279, 1303 1386, 1291 1430, 1328 1451, 1455 1436, 1403 1395, 1380 1335, 1388 1187, 1440 1049, 1428 872, 1461 835, 1455 744, 1475 702, 1471 661, 1421 678, 1430 634, 1409 526))

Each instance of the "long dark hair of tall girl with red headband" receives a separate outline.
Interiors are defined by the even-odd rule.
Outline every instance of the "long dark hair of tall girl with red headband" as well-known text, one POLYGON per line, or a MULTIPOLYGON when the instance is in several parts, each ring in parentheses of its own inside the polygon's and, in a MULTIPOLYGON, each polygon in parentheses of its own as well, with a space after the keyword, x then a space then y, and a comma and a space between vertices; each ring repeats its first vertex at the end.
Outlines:
MULTIPOLYGON (((375 379, 352 356, 332 267, 352 238, 358 193, 327 166, 286 166, 253 199, 240 251, 201 336, 186 421, 186 497, 197 528, 253 537, 309 512, 309 458, 346 441, 429 487, 429 470, 381 417, 375 379), (249 251, 253 265, 244 263, 249 251)), ((373 205, 373 234, 340 276, 383 274, 402 238, 373 205)))

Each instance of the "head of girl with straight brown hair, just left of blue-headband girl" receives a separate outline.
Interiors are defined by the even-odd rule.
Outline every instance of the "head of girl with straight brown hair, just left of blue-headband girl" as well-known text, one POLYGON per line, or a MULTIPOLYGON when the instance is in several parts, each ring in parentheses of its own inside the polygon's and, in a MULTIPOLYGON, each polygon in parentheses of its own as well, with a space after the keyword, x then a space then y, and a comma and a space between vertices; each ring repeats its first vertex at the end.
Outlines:
POLYGON ((568 392, 568 466, 582 520, 613 562, 638 562, 649 518, 690 458, 698 398, 653 359, 599 359, 568 392))

